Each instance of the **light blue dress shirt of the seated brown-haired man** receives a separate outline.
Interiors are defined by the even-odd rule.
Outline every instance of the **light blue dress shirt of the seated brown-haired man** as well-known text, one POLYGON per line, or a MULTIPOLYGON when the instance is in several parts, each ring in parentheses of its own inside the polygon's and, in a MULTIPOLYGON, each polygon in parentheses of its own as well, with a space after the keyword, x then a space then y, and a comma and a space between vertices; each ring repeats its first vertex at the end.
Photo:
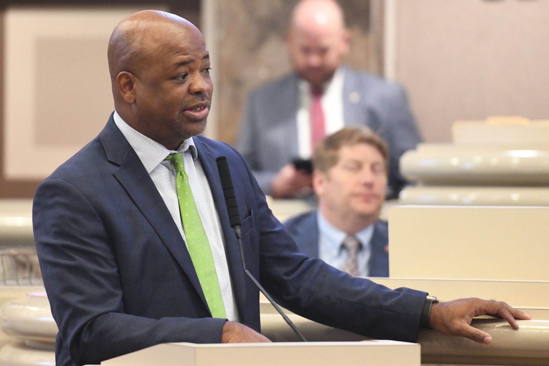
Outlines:
MULTIPOLYGON (((330 266, 341 269, 349 252, 341 245, 348 234, 328 222, 320 210, 317 211, 318 221, 318 257, 330 266)), ((371 256, 371 245, 374 225, 371 224, 356 233, 354 237, 362 244, 358 252, 358 275, 368 277, 368 262, 371 256)))

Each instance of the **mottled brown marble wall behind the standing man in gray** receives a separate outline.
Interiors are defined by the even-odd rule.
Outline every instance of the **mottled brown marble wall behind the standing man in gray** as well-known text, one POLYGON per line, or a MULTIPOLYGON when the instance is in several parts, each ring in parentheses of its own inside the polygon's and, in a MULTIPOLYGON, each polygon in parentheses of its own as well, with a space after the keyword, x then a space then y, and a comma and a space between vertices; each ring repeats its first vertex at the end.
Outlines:
MULTIPOLYGON (((289 14, 296 0, 218 1, 215 98, 217 139, 233 143, 248 92, 290 69, 284 44, 289 14)), ((341 1, 352 32, 346 62, 380 74, 382 2, 341 1)))

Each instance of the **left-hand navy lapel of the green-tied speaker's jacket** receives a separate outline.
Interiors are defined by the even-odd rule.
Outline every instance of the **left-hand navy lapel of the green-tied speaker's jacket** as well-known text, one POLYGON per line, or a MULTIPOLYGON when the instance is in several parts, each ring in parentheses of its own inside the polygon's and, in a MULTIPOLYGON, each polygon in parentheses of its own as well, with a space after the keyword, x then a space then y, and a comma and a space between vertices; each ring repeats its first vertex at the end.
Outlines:
POLYGON ((114 172, 114 176, 153 226, 173 257, 176 258, 204 302, 206 309, 209 309, 191 256, 189 256, 189 252, 175 222, 173 222, 170 211, 164 204, 160 193, 158 193, 158 189, 156 189, 152 179, 150 179, 141 160, 139 160, 139 157, 130 143, 127 142, 122 132, 116 127, 112 116, 105 129, 99 134, 99 138, 107 153, 107 159, 120 165, 114 172))

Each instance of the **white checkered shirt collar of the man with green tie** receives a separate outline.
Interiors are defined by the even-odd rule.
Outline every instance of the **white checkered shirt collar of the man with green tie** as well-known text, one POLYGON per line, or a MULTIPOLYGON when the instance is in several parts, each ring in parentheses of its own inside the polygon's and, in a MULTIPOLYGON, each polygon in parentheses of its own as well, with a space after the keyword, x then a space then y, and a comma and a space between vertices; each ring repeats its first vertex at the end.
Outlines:
POLYGON ((177 150, 169 150, 166 149, 164 145, 133 129, 133 127, 128 125, 122 117, 120 117, 118 112, 114 111, 113 119, 116 126, 120 129, 120 132, 122 132, 133 150, 135 150, 139 160, 141 160, 149 174, 166 159, 166 156, 172 153, 184 153, 188 150, 191 153, 193 160, 197 160, 198 151, 192 137, 183 140, 177 150))

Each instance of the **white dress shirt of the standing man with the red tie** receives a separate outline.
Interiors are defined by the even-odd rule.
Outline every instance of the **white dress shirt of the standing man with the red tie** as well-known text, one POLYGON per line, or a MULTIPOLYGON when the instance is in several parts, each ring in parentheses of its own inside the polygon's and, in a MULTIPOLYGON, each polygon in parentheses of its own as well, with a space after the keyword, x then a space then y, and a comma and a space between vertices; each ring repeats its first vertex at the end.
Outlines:
MULTIPOLYGON (((321 102, 324 112, 324 131, 326 135, 339 131, 344 127, 343 116, 343 81, 344 72, 341 68, 335 70, 332 80, 324 85, 321 102)), ((310 159, 311 151, 311 85, 305 80, 298 82, 299 104, 296 121, 298 123, 298 149, 301 159, 310 159)))

